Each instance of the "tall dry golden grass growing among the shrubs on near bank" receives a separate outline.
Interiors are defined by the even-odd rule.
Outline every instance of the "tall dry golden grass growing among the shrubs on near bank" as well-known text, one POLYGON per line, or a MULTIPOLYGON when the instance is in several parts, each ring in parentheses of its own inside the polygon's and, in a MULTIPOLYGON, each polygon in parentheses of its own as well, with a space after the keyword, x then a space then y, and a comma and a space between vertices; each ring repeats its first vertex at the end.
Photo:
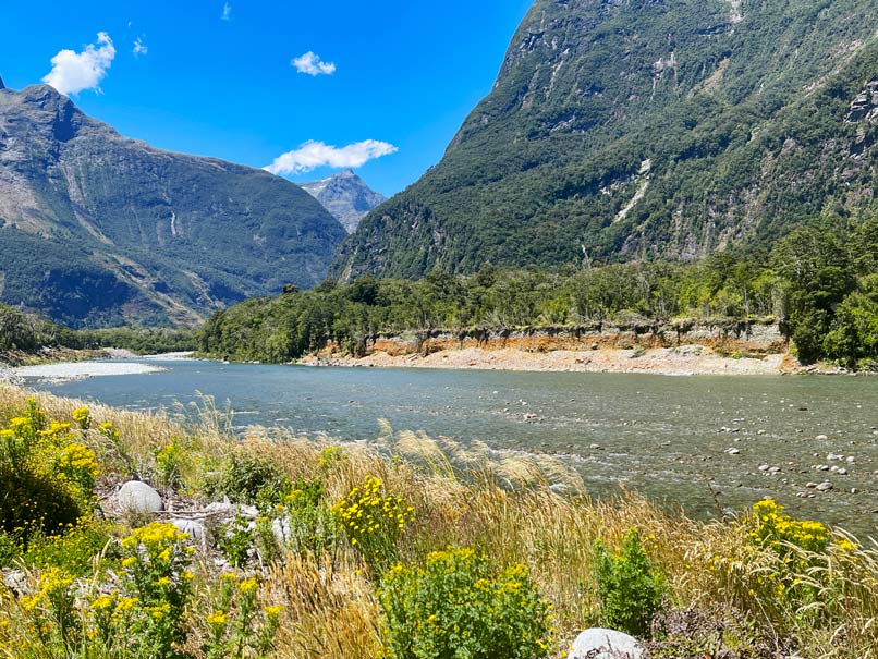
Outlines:
MULTIPOLYGON (((0 420, 23 407, 28 395, 0 387, 0 420)), ((38 399, 52 418, 69 418, 82 404, 51 395, 38 399)), ((837 530, 826 551, 790 545, 789 551, 778 552, 755 545, 744 522, 696 522, 621 489, 618 497, 600 501, 571 495, 582 492, 582 483, 554 459, 498 453, 481 444, 393 432, 387 426, 375 442, 345 443, 341 456, 327 462, 328 438, 315 441, 254 428, 240 439, 209 404, 203 406, 200 420, 185 427, 181 419, 161 415, 100 405, 90 410, 97 423, 111 422, 119 430, 117 452, 129 455, 144 477, 155 474, 157 449, 175 438, 182 441, 193 456, 184 475, 193 492, 205 471, 235 451, 270 461, 293 481, 321 479, 328 501, 342 499, 367 475, 380 478, 415 510, 415 522, 399 544, 402 560, 456 546, 475 548, 497 564, 529 568, 553 607, 558 657, 580 631, 600 622, 595 541, 618 547, 631 529, 638 532, 667 579, 668 610, 700 612, 718 624, 734 622, 729 625, 734 634, 717 643, 736 644, 745 656, 796 651, 809 659, 878 657, 878 544, 871 539, 837 530)), ((125 461, 94 439, 102 447, 106 481, 124 476, 125 461)), ((215 577, 210 561, 200 570, 199 579, 209 584, 215 577)), ((325 556, 288 556, 261 577, 260 598, 284 606, 279 657, 378 656, 376 578, 352 547, 343 545, 325 556)), ((204 634, 198 619, 205 607, 194 607, 193 637, 204 634)), ((21 618, 14 597, 0 597, 0 648, 3 643, 16 648, 17 655, 7 650, 9 657, 41 656, 27 649, 33 644, 21 635, 21 618)), ((693 638, 691 647, 707 651, 712 633, 693 638)), ((197 657, 196 646, 191 652, 197 657)))

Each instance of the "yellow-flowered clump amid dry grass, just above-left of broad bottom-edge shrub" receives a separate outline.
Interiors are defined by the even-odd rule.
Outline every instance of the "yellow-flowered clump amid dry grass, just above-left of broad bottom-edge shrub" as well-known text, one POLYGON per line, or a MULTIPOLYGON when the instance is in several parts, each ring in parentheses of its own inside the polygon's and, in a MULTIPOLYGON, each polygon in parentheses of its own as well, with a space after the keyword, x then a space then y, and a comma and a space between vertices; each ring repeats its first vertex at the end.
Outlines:
POLYGON ((393 492, 386 492, 383 481, 375 476, 366 476, 363 485, 332 507, 351 545, 379 571, 395 560, 397 540, 413 511, 393 492))

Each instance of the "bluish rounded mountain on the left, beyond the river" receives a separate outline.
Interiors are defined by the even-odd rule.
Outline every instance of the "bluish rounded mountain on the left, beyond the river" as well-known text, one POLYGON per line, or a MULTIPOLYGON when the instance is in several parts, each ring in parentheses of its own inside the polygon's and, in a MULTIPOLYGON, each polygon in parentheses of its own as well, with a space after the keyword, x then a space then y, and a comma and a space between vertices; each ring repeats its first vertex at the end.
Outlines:
POLYGON ((0 90, 0 302, 194 325, 320 282, 344 235, 284 179, 129 139, 49 86, 0 90))

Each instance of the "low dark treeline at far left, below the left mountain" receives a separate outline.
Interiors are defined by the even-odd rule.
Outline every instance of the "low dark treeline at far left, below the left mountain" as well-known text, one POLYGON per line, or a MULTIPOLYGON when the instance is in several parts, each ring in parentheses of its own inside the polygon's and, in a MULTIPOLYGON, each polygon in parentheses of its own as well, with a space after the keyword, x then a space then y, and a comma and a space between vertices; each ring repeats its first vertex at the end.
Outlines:
POLYGON ((151 354, 191 351, 195 346, 195 331, 192 329, 120 327, 72 330, 34 314, 0 305, 0 353, 34 353, 42 347, 123 347, 137 354, 151 354))

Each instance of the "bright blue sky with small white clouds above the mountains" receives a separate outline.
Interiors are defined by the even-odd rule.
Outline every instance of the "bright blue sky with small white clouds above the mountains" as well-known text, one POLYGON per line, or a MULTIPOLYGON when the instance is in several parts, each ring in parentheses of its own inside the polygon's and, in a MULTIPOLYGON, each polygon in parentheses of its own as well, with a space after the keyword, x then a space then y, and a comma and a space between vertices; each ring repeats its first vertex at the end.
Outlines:
POLYGON ((8 87, 51 74, 124 135, 253 167, 289 154, 297 182, 373 157, 357 172, 389 195, 441 158, 531 0, 4 4, 8 87))

